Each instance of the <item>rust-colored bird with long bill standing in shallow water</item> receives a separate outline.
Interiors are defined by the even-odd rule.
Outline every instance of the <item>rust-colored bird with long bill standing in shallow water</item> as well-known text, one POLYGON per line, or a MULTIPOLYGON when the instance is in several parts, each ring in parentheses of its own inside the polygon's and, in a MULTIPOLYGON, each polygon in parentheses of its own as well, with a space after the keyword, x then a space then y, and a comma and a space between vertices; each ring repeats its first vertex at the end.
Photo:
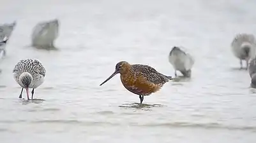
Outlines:
POLYGON ((118 73, 121 74, 123 86, 130 92, 139 95, 140 104, 142 104, 144 96, 157 92, 167 81, 172 79, 172 76, 165 76, 148 65, 131 65, 126 61, 121 61, 116 64, 116 71, 100 86, 118 73))

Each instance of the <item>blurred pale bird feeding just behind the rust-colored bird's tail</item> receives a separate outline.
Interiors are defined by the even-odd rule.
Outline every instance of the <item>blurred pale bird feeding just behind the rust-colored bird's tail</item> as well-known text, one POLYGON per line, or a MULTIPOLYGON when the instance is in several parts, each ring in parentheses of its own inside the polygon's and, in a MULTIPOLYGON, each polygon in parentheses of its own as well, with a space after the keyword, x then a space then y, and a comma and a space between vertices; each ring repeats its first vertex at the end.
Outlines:
POLYGON ((174 67, 175 76, 177 76, 176 71, 180 71, 185 77, 191 76, 191 70, 195 60, 189 53, 186 53, 181 50, 181 48, 174 46, 169 53, 169 62, 174 67))

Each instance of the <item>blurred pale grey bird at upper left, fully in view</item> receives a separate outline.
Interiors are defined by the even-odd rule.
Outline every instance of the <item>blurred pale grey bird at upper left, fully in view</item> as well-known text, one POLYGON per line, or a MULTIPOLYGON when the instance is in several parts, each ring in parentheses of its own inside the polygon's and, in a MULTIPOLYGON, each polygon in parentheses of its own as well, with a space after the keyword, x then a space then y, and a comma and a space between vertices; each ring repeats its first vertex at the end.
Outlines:
POLYGON ((31 36, 32 45, 40 48, 54 47, 54 41, 59 35, 59 20, 54 19, 37 24, 31 36))

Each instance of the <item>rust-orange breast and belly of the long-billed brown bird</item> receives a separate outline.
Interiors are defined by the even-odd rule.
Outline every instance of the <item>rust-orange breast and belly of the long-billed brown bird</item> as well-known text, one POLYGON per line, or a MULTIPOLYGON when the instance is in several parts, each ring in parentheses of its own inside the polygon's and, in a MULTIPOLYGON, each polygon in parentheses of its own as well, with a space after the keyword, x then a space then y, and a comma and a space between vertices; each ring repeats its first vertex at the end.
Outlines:
POLYGON ((150 95, 162 87, 162 85, 156 85, 147 81, 146 77, 142 76, 142 74, 134 72, 121 74, 121 81, 127 90, 137 95, 150 95))

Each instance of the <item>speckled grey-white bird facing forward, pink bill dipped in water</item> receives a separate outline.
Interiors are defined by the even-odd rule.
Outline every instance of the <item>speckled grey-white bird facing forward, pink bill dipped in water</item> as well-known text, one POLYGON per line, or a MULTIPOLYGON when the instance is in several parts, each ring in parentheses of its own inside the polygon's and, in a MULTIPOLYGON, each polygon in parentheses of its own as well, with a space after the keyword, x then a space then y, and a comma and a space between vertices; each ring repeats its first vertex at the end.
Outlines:
POLYGON ((40 86, 45 80, 45 68, 39 60, 26 59, 20 60, 13 69, 13 78, 22 87, 19 98, 22 98, 23 88, 27 92, 27 100, 29 100, 29 88, 32 90, 32 98, 34 95, 34 88, 40 86))

